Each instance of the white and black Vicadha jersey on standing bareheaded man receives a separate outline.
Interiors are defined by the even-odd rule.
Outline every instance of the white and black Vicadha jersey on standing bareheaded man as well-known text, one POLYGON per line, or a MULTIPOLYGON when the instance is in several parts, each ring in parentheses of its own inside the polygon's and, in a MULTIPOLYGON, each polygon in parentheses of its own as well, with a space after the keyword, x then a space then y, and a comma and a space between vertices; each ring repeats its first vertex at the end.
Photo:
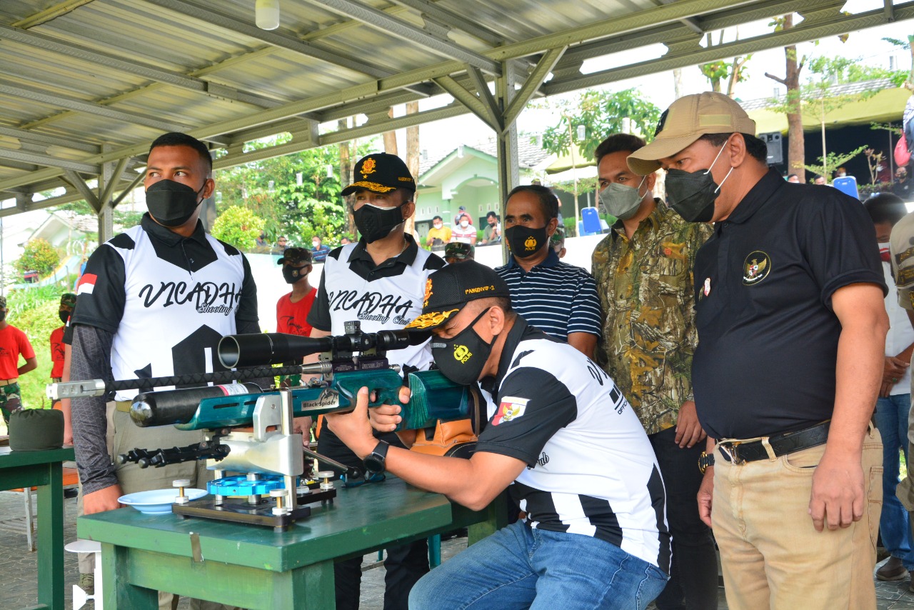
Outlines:
POLYGON ((238 250, 202 225, 184 238, 148 215, 93 252, 77 294, 70 322, 112 333, 115 380, 225 370, 219 339, 237 319, 257 322, 257 289, 238 250))

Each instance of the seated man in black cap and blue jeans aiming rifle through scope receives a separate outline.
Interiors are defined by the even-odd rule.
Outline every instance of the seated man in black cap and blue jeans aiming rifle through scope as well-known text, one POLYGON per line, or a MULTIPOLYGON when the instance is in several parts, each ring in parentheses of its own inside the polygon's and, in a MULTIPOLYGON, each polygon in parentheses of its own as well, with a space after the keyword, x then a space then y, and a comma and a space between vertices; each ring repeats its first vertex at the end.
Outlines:
MULTIPOLYGON (((388 470, 474 510, 505 487, 526 512, 428 573, 411 608, 640 608, 670 565, 664 484, 641 423, 610 377, 577 349, 528 326, 508 286, 478 262, 434 273, 422 316, 441 373, 494 399, 469 460, 421 455, 372 435, 399 406, 327 415, 368 470, 388 470), (497 406, 495 406, 497 405, 497 406)), ((409 401, 409 390, 400 391, 409 401)), ((399 433, 404 444, 415 431, 399 433)))

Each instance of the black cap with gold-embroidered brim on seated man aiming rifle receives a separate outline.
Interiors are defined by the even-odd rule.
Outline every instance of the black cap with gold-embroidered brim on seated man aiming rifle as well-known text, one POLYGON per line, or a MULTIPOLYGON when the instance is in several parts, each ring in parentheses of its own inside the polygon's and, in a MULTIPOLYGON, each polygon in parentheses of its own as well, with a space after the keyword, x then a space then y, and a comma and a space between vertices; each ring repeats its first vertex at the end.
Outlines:
POLYGON ((407 328, 429 329, 441 326, 470 301, 494 296, 511 298, 508 284, 491 267, 475 261, 450 264, 425 281, 422 315, 407 328))

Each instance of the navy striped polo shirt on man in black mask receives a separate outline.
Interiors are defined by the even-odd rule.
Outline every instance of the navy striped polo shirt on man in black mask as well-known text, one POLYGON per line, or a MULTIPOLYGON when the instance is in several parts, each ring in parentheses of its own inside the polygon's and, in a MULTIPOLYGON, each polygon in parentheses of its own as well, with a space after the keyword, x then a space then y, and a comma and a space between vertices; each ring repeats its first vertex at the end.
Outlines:
POLYGON ((559 261, 551 248, 546 260, 530 273, 525 273, 513 256, 495 273, 508 284, 511 306, 530 326, 563 341, 571 333, 600 337, 597 284, 587 270, 559 261))

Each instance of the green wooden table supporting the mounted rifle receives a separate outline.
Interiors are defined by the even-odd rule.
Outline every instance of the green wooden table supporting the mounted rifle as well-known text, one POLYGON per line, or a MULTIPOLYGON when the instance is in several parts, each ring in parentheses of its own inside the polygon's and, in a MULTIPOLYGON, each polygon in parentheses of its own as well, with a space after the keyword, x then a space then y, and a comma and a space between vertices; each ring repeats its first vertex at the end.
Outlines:
POLYGON ((478 540, 502 525, 503 498, 474 512, 388 476, 338 487, 333 503, 284 532, 133 508, 80 517, 79 537, 101 542, 104 606, 155 610, 156 591, 286 610, 334 607, 334 560, 469 527, 478 540))

